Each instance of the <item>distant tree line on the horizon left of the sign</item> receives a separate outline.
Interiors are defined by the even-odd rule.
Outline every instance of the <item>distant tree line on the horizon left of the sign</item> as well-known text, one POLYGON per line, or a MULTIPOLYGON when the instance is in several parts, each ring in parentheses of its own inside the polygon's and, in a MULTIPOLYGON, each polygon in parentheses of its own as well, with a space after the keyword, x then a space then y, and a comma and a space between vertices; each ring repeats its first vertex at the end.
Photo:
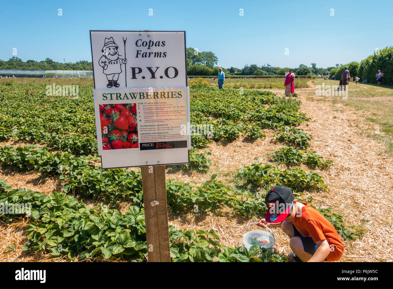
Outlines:
POLYGON ((26 62, 22 59, 13 56, 4 61, 0 59, 0 69, 22 69, 22 70, 93 70, 91 62, 86 60, 77 61, 75 63, 61 63, 46 58, 42 61, 28 60, 26 62))

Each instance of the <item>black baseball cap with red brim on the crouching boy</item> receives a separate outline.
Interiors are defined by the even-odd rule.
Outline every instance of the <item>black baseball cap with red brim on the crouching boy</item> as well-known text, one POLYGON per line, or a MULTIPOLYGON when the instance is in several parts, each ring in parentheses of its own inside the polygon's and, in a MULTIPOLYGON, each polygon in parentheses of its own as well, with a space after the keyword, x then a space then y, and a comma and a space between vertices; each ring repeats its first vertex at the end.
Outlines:
POLYGON ((284 221, 290 214, 294 195, 290 188, 286 186, 275 186, 270 189, 265 197, 266 212, 265 221, 269 223, 279 223, 284 221))

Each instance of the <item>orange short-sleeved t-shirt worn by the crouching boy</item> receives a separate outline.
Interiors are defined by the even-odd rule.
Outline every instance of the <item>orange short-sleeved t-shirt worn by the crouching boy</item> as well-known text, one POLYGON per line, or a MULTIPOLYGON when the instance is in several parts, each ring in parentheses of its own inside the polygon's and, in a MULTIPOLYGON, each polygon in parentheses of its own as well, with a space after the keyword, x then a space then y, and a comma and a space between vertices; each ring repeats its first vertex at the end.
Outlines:
POLYGON ((309 204, 304 202, 300 203, 305 206, 301 208, 301 214, 295 215, 292 223, 305 237, 311 237, 314 243, 321 240, 327 240, 331 248, 326 258, 328 262, 339 260, 344 252, 344 245, 336 229, 328 219, 323 217, 320 212, 310 207, 309 204))

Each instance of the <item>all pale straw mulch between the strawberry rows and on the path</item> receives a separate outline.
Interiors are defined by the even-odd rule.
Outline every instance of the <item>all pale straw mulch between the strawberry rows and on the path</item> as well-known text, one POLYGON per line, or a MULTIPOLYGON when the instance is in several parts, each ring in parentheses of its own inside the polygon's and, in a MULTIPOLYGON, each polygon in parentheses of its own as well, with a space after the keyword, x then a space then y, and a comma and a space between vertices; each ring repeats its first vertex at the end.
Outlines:
MULTIPOLYGON (((327 171, 314 170, 325 178, 330 191, 306 191, 302 196, 306 199, 314 197, 312 205, 316 207, 332 207, 333 212, 346 217, 345 225, 362 225, 366 230, 363 238, 355 241, 345 241, 345 251, 340 261, 392 261, 393 238, 392 216, 393 211, 393 158, 386 155, 384 146, 373 138, 366 138, 359 127, 365 124, 364 117, 340 104, 309 101, 307 96, 315 97, 315 89, 305 88, 296 91, 303 102, 302 111, 312 119, 307 127, 301 127, 305 132, 312 134, 315 139, 310 141, 309 151, 316 151, 325 159, 334 163, 334 168, 327 171), (344 112, 338 111, 338 109, 344 112)), ((282 90, 274 90, 282 95, 282 90)), ((363 114, 363 112, 362 112, 363 114)), ((273 131, 266 130, 266 140, 245 142, 243 136, 230 144, 210 144, 206 149, 211 151, 213 161, 207 174, 184 172, 182 170, 167 170, 167 179, 174 178, 184 182, 196 181, 198 184, 210 179, 213 173, 225 184, 231 185, 233 175, 242 165, 253 162, 268 163, 266 153, 271 153, 282 147, 270 141, 273 131)), ((285 166, 279 166, 281 169, 285 166)), ((303 169, 307 167, 302 166, 303 169)), ((28 182, 28 178, 38 177, 35 173, 0 175, 14 187, 35 188, 37 191, 48 192, 55 190, 54 185, 47 184, 47 188, 40 188, 39 184, 28 182)), ((91 200, 89 206, 100 202, 91 200)), ((102 203, 101 203, 102 204, 102 203)), ((119 204, 122 212, 127 210, 129 203, 119 204)), ((242 245, 244 227, 258 218, 244 219, 230 215, 228 208, 222 208, 222 216, 213 212, 188 213, 182 215, 168 215, 169 225, 177 229, 213 229, 221 238, 221 243, 227 246, 242 245)), ((27 220, 15 222, 11 225, 0 223, 0 261, 49 261, 48 254, 32 254, 22 252, 27 242, 23 230, 27 220), (17 247, 12 252, 4 252, 6 246, 12 243, 17 247)), ((257 227, 255 227, 257 228, 257 227)), ((250 229, 255 229, 250 228, 250 229)), ((360 228, 360 227, 358 227, 360 228)), ((286 254, 291 252, 289 240, 280 228, 272 227, 275 236, 276 252, 286 254)), ((61 259, 61 261, 69 261, 61 259)), ((105 261, 102 258, 97 261, 105 261)), ((114 261, 112 259, 108 261, 114 261)))

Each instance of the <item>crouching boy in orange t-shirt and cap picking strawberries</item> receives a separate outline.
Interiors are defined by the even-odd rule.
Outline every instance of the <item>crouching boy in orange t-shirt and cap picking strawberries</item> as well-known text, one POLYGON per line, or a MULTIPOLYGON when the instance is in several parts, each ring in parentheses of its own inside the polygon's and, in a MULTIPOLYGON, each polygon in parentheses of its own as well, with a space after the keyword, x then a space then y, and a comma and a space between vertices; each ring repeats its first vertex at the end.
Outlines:
POLYGON ((331 262, 341 258, 344 245, 336 229, 309 204, 295 201, 289 188, 275 186, 266 195, 265 202, 266 217, 257 225, 281 225, 294 252, 288 257, 298 262, 331 262))

